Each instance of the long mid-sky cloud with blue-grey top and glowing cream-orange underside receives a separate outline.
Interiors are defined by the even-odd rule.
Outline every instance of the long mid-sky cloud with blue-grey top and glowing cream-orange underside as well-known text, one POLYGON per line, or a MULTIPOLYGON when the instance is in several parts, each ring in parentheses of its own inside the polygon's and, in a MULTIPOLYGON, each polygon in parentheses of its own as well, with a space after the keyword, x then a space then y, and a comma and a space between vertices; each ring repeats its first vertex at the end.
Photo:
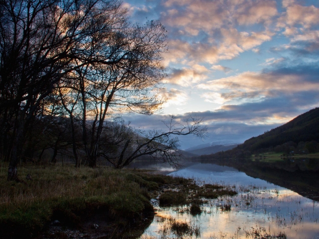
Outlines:
MULTIPOLYGON (((276 61, 278 62, 278 59, 268 59, 270 64, 276 61)), ((316 89, 319 92, 318 75, 318 66, 298 65, 273 70, 265 69, 262 72, 244 72, 230 77, 210 80, 199 84, 197 87, 210 90, 214 94, 217 92, 224 101, 236 100, 239 104, 261 100, 265 97, 276 97, 280 94, 289 95, 298 92, 317 91, 316 89)), ((203 97, 206 96, 208 94, 203 95, 203 97)), ((216 96, 214 98, 218 99, 216 96)))

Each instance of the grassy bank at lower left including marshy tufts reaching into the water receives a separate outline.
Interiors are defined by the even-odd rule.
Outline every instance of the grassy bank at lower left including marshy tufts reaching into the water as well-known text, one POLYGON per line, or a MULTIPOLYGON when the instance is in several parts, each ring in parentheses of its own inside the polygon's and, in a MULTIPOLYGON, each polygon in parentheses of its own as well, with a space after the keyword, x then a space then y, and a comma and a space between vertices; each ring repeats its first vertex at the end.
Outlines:
POLYGON ((162 206, 187 204, 192 214, 199 214, 204 198, 236 194, 230 187, 199 187, 189 179, 109 167, 22 164, 18 176, 23 182, 8 182, 6 175, 7 164, 1 163, 0 233, 4 238, 68 238, 49 233, 56 221, 60 227, 88 235, 137 238, 153 220, 151 198, 160 195, 162 206))

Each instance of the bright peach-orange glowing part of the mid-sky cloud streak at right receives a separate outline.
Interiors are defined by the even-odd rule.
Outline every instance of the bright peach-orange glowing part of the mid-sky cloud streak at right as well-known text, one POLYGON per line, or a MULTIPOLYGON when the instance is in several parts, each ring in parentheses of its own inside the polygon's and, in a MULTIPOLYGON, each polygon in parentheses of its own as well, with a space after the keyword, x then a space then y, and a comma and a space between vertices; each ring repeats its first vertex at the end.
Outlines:
POLYGON ((235 76, 201 83, 197 87, 212 93, 202 95, 209 102, 237 104, 255 102, 277 94, 294 94, 319 89, 318 81, 305 83, 304 75, 244 72, 235 76))

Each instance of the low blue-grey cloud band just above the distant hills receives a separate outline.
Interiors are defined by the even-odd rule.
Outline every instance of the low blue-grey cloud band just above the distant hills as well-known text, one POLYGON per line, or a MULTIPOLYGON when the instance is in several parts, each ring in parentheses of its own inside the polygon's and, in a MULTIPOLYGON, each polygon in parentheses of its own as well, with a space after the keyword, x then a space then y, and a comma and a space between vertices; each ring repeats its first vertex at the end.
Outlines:
MULTIPOLYGON (((229 105, 217 111, 189 112, 178 115, 177 119, 180 120, 189 114, 197 115, 203 118, 203 123, 208 127, 207 137, 204 139, 197 138, 193 135, 179 137, 181 148, 188 148, 203 142, 224 139, 243 142, 250 137, 257 136, 266 130, 286 123, 310 109, 311 108, 298 110, 296 106, 287 104, 283 99, 276 99, 275 101, 249 103, 241 106, 229 105), (283 103, 282 107, 287 107, 287 113, 283 113, 282 109, 276 104, 276 101, 283 103), (273 121, 274 119, 277 121, 273 121)), ((132 126, 140 129, 167 130, 162 121, 169 119, 169 116, 145 116, 133 113, 124 115, 123 118, 126 121, 131 121, 132 126)))

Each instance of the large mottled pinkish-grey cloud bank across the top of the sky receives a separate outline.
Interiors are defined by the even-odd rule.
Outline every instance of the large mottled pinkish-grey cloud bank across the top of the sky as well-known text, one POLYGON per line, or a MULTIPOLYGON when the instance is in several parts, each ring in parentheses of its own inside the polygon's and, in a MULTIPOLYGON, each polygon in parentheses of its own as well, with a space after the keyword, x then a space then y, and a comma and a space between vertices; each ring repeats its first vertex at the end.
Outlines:
POLYGON ((125 4, 134 17, 159 16, 166 26, 169 53, 164 54, 165 66, 191 66, 194 62, 217 65, 218 61, 234 59, 248 50, 258 53, 259 46, 281 32, 292 42, 313 42, 308 51, 318 49, 319 33, 315 28, 319 26, 319 8, 283 0, 279 13, 277 2, 142 0, 139 4, 125 4))

